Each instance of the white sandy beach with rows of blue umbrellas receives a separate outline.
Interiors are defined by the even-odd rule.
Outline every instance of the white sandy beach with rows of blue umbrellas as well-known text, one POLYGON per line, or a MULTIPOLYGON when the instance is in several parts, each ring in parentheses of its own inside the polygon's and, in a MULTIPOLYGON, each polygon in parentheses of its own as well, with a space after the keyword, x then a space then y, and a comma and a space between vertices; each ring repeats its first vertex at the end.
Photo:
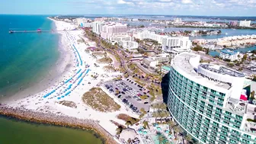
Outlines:
MULTIPOLYGON (((65 62, 59 63, 61 65, 59 71, 63 71, 61 72, 62 75, 56 77, 55 84, 50 88, 46 88, 37 94, 31 94, 26 98, 8 101, 6 104, 11 107, 22 107, 46 114, 52 113, 80 119, 98 120, 99 124, 114 136, 117 126, 111 123, 110 120, 125 125, 123 120, 117 119, 117 114, 137 116, 127 111, 119 101, 117 103, 121 105, 120 110, 111 113, 101 113, 93 110, 82 102, 82 94, 96 87, 99 82, 110 80, 114 77, 109 75, 109 72, 104 72, 104 64, 98 64, 100 67, 95 67, 94 63, 97 63, 97 59, 94 59, 89 53, 85 53, 85 49, 88 46, 85 43, 77 43, 77 40, 80 39, 79 35, 82 35, 82 30, 72 30, 74 26, 63 21, 55 21, 55 24, 57 30, 66 29, 66 31, 59 32, 62 34, 61 40, 64 49, 62 52, 69 53, 69 55, 66 55, 69 58, 66 58, 65 62), (99 75, 97 79, 91 77, 91 75, 96 74, 99 75), (88 84, 88 82, 91 82, 91 84, 88 84), (58 104, 58 101, 63 100, 73 101, 77 107, 72 108, 58 104)), ((88 41, 88 44, 95 46, 94 42, 88 41)), ((104 88, 103 90, 106 91, 104 88)))

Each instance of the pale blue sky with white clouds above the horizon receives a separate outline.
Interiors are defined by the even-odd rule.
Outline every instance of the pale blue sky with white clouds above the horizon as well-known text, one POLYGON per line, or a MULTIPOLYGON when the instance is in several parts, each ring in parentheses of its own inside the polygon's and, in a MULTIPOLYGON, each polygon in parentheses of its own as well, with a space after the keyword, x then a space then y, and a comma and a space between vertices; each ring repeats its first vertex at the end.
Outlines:
POLYGON ((256 0, 0 0, 0 14, 256 16, 256 0))

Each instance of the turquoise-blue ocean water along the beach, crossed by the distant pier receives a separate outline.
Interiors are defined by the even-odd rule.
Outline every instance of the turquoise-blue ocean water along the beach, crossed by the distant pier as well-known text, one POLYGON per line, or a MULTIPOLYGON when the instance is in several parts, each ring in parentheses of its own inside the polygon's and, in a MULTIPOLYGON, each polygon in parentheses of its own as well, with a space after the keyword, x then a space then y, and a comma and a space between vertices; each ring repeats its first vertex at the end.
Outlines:
POLYGON ((59 57, 59 34, 14 33, 9 30, 51 30, 42 15, 0 15, 0 97, 8 97, 42 80, 59 57))

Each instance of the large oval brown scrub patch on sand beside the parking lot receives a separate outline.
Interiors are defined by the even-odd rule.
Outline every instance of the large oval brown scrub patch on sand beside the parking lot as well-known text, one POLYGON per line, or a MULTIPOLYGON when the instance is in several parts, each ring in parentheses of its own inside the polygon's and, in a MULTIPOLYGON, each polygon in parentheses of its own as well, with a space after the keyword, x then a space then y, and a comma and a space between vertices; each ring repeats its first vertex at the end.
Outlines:
POLYGON ((120 110, 120 105, 110 98, 101 88, 91 88, 82 96, 82 101, 101 112, 113 112, 120 110))

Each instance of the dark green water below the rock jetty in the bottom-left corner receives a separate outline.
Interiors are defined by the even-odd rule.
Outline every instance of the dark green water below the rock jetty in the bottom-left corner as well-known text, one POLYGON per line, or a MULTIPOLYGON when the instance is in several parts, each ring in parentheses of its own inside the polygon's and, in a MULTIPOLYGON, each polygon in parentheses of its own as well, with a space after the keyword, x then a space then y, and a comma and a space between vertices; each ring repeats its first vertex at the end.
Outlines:
POLYGON ((1 144, 102 144, 92 131, 27 123, 0 117, 1 144))

